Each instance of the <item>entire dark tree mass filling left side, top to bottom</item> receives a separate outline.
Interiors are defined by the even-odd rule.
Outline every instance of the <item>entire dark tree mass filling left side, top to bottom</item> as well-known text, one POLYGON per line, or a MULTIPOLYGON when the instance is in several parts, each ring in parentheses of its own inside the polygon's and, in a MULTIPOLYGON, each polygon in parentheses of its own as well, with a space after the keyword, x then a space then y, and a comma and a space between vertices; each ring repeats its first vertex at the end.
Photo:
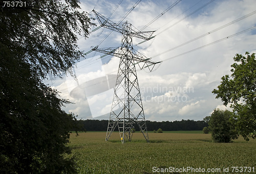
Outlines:
POLYGON ((0 172, 75 172, 66 146, 74 115, 68 101, 42 83, 82 56, 76 33, 91 26, 77 0, 26 1, 26 7, 0 2, 0 172))

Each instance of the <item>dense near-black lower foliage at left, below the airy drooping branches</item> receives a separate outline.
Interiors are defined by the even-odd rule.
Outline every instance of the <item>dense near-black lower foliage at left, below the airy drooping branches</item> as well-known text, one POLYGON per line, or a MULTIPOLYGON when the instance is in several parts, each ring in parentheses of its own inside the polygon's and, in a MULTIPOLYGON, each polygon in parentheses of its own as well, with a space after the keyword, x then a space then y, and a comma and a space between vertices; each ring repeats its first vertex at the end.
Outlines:
POLYGON ((73 162, 62 156, 70 153, 65 144, 73 126, 73 116, 60 109, 66 101, 24 62, 9 57, 0 73, 1 173, 73 172, 73 162))

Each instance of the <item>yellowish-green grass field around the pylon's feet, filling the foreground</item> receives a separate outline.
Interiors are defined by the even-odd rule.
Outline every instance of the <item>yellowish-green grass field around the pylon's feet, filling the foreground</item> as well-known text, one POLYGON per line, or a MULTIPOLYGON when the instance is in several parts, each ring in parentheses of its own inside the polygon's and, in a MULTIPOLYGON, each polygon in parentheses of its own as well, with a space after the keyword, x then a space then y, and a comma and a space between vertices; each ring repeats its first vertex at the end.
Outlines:
POLYGON ((134 133, 132 142, 122 144, 117 132, 109 141, 104 140, 105 132, 72 133, 71 157, 75 157, 79 173, 256 173, 256 140, 213 143, 210 134, 191 132, 148 136, 151 143, 134 133), (161 170, 165 172, 158 172, 161 170))

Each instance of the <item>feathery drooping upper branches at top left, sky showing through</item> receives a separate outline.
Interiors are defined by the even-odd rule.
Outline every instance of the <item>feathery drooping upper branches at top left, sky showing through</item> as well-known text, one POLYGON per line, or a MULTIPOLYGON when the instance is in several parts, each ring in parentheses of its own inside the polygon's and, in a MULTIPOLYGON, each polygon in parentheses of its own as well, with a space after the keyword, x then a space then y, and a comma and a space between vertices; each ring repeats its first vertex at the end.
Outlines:
POLYGON ((26 7, 3 7, 0 2, 1 42, 23 53, 37 75, 59 75, 83 55, 77 50, 77 35, 87 37, 88 13, 79 12, 79 0, 27 0, 26 7))

